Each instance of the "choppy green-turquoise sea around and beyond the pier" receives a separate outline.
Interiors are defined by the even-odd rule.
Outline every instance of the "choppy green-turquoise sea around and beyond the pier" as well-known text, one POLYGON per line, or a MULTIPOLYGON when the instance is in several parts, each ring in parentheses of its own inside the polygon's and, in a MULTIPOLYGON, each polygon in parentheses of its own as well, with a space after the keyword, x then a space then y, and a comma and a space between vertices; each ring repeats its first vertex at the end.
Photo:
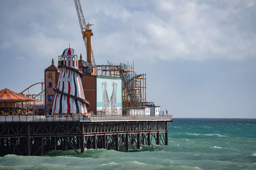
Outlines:
POLYGON ((5 155, 0 169, 256 169, 256 119, 173 118, 168 146, 5 155))

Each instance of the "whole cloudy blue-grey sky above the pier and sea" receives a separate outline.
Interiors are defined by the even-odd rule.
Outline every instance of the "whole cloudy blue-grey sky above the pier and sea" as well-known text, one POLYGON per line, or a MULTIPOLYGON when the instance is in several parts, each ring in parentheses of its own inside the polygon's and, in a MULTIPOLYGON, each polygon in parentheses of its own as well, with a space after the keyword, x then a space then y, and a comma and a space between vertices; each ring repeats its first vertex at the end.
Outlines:
MULTIPOLYGON (((0 89, 44 79, 70 46, 86 58, 74 1, 0 0, 0 89)), ((87 1, 96 64, 133 62, 147 101, 174 118, 256 118, 256 1, 87 1)), ((31 89, 39 92, 40 86, 31 89)))

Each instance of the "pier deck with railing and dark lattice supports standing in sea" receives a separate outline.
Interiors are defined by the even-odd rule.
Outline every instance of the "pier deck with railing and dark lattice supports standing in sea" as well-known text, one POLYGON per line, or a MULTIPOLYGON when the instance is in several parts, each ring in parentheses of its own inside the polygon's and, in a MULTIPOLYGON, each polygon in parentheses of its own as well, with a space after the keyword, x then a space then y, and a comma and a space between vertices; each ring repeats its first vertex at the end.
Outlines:
POLYGON ((129 152, 168 145, 172 116, 0 117, 0 155, 44 155, 49 150, 105 148, 129 152))

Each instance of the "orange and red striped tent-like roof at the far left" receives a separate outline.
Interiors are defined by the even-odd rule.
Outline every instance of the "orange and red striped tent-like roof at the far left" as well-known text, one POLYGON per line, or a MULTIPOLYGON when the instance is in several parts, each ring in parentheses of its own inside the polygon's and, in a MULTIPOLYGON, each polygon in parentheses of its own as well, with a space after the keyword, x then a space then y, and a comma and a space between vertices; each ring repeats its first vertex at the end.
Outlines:
POLYGON ((9 89, 0 90, 0 102, 9 101, 9 102, 24 102, 24 101, 35 101, 29 97, 22 96, 17 94, 9 89))

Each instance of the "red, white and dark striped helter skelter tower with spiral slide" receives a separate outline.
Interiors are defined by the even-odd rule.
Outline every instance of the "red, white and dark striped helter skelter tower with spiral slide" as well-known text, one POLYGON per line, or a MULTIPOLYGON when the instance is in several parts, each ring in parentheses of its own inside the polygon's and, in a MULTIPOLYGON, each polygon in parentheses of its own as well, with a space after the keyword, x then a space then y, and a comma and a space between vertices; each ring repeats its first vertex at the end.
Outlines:
POLYGON ((81 76, 78 69, 78 57, 73 48, 67 48, 59 56, 60 76, 52 108, 53 113, 87 113, 90 103, 84 98, 81 76))

